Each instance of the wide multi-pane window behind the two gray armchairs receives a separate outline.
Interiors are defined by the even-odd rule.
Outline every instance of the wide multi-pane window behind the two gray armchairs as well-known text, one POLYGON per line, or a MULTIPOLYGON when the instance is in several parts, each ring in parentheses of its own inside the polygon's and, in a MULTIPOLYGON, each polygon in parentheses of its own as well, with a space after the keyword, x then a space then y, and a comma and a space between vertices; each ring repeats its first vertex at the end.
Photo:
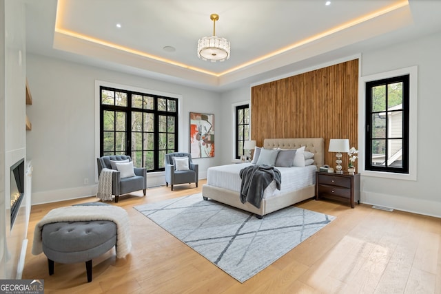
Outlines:
POLYGON ((178 150, 178 99, 103 86, 100 96, 100 156, 163 171, 165 154, 178 150))

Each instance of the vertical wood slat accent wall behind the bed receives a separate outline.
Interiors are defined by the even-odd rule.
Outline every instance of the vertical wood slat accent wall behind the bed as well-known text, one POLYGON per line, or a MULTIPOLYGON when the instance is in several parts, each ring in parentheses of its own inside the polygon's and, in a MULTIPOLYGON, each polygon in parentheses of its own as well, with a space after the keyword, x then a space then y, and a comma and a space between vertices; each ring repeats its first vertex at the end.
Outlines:
POLYGON ((334 167, 329 139, 348 138, 358 149, 358 59, 254 86, 251 110, 258 146, 264 138, 325 138, 325 163, 334 167))

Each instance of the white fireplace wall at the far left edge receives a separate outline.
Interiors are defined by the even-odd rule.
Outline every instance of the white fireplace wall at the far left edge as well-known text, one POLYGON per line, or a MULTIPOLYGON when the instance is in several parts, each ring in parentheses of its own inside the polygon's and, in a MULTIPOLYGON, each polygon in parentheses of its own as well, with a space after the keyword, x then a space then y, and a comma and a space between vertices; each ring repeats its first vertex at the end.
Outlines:
MULTIPOLYGON (((0 1, 2 13, 2 34, 4 40, 1 59, 4 63, 0 75, 4 89, 0 98, 2 122, 0 161, 4 162, 0 172, 0 278, 16 278, 23 240, 26 238, 27 224, 23 209, 10 227, 10 167, 26 156, 25 135, 25 10, 23 1, 0 1), (4 96, 3 96, 4 95, 4 96), (3 100, 4 98, 4 100, 3 100), (4 148, 4 149, 3 149, 4 148), (4 150, 4 152, 3 152, 4 150), (6 271, 5 271, 6 270, 6 271)), ((23 255, 24 258, 24 255, 23 255)))

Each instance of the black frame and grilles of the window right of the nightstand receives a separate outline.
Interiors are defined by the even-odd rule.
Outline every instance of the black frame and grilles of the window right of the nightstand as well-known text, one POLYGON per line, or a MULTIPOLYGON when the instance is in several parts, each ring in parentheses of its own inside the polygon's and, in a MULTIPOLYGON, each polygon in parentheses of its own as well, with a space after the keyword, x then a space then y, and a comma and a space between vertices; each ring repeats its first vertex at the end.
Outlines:
MULTIPOLYGON (((366 90, 365 90, 365 97, 366 97, 366 113, 365 113, 365 170, 367 171, 382 171, 387 173, 395 173, 395 174, 409 174, 409 106, 410 106, 410 74, 404 74, 402 76, 394 76, 391 78, 382 78, 380 80, 376 81, 369 81, 366 82, 366 90), (372 164, 372 141, 374 138, 373 132, 372 132, 372 117, 373 114, 376 114, 377 112, 374 112, 372 109, 372 88, 377 87, 380 85, 387 85, 393 84, 393 83, 400 83, 402 82, 402 109, 400 110, 390 110, 387 103, 388 103, 388 92, 386 91, 386 105, 385 109, 380 111, 384 113, 386 117, 388 117, 388 114, 394 111, 402 111, 402 137, 400 138, 394 138, 389 136, 389 134, 385 134, 384 139, 385 140, 385 153, 384 153, 384 165, 373 165, 372 164), (402 140, 402 167, 389 167, 387 165, 387 158, 389 158, 388 154, 388 142, 391 139, 401 139, 402 140)), ((385 129, 389 129, 389 121, 385 120, 385 129)), ((375 138, 379 139, 379 138, 375 138)))

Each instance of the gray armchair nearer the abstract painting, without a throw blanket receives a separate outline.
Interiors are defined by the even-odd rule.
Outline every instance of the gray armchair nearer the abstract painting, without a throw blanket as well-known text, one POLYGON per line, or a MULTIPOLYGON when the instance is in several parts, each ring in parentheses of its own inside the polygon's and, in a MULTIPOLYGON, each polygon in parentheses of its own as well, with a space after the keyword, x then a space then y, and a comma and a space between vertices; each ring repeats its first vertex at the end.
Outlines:
POLYGON ((170 184, 172 186, 177 184, 186 183, 196 183, 196 188, 198 187, 199 171, 198 165, 193 163, 192 155, 185 152, 174 152, 165 154, 165 185, 168 187, 170 184), (173 158, 174 157, 188 157, 189 170, 186 171, 176 171, 173 158))

